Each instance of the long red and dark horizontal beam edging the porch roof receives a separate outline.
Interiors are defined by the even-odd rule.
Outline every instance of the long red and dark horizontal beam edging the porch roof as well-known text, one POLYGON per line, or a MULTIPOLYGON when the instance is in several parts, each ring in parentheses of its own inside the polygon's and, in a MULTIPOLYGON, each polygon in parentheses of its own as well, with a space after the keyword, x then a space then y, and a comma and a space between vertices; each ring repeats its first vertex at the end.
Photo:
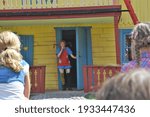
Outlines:
POLYGON ((65 19, 65 18, 89 18, 111 17, 120 14, 121 6, 104 7, 79 7, 79 8, 55 8, 55 9, 25 9, 2 10, 0 20, 35 20, 35 19, 65 19))

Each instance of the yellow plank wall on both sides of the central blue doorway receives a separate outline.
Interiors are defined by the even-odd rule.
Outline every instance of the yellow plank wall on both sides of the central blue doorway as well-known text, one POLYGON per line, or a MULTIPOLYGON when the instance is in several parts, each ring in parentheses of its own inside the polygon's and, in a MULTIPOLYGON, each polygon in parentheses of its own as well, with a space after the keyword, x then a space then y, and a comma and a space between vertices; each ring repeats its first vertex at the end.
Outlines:
POLYGON ((113 24, 11 26, 0 30, 11 30, 20 35, 34 35, 34 65, 46 65, 46 89, 58 89, 56 63, 56 34, 54 27, 92 26, 93 64, 116 64, 113 24))

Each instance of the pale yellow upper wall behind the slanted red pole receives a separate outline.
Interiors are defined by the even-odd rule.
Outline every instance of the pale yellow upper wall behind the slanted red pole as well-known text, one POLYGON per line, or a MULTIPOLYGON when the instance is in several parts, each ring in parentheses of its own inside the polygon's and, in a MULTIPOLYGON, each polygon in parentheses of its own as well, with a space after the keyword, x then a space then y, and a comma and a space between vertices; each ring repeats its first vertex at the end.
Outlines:
MULTIPOLYGON (((124 0, 119 1, 122 5, 122 9, 127 9, 124 0)), ((139 19, 140 22, 149 22, 150 21, 150 0, 131 0, 131 4, 133 5, 133 8, 135 10, 135 13, 139 19)), ((133 27, 133 22, 131 20, 131 17, 128 12, 123 12, 121 19, 120 19, 120 28, 129 28, 133 27)))

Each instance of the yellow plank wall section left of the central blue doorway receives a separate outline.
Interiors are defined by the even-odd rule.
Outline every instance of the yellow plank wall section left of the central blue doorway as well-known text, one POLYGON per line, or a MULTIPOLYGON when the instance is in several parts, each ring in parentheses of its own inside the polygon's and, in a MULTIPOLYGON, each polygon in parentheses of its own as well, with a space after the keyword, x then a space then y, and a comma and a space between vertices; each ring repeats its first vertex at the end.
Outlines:
POLYGON ((46 65, 46 89, 58 89, 55 30, 50 26, 13 26, 3 30, 11 30, 20 35, 34 35, 34 65, 46 65))

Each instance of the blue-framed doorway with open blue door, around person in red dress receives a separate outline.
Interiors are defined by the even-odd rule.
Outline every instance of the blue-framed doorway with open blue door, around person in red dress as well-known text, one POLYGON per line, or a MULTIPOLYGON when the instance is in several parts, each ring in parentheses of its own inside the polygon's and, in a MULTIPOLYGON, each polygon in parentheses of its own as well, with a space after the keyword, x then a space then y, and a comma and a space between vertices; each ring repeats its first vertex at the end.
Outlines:
MULTIPOLYGON (((56 50, 60 40, 65 40, 66 44, 77 57, 71 59, 72 86, 77 90, 84 89, 83 66, 92 65, 92 43, 91 27, 60 27, 56 29, 56 50)), ((58 85, 62 89, 60 73, 58 71, 58 85)))

